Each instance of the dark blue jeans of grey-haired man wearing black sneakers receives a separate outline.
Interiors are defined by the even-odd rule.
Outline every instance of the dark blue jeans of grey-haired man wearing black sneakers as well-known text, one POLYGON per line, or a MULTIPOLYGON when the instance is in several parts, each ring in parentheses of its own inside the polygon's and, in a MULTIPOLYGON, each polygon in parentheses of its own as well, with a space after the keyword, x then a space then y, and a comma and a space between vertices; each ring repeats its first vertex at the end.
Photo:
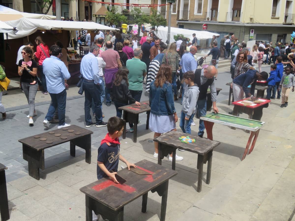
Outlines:
POLYGON ((95 109, 95 120, 96 125, 102 122, 102 111, 101 111, 101 85, 96 85, 93 82, 83 80, 83 89, 85 93, 85 103, 84 103, 84 111, 85 111, 85 121, 86 125, 91 124, 91 115, 90 108, 92 99, 94 101, 94 109, 95 109))

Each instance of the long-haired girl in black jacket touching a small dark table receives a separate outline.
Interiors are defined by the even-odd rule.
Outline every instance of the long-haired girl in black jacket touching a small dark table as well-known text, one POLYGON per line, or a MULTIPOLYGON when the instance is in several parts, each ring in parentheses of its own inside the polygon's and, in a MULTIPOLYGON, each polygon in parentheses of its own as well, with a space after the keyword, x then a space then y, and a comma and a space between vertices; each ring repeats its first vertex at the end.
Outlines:
MULTIPOLYGON (((118 72, 116 73, 116 78, 113 84, 113 97, 114 103, 117 110, 117 117, 121 118, 122 110, 119 110, 119 107, 126 106, 129 104, 135 103, 136 105, 140 105, 139 102, 135 101, 130 94, 128 89, 128 77, 129 70, 126 67, 121 67, 118 72)), ((129 123, 131 131, 133 131, 133 124, 129 123)))

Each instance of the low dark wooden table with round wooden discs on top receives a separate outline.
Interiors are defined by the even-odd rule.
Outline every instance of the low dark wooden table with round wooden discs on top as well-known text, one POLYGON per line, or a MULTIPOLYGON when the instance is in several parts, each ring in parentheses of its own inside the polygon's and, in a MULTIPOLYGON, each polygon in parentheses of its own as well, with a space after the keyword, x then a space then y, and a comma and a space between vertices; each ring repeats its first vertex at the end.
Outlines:
POLYGON ((44 149, 68 141, 70 141, 71 156, 75 156, 75 148, 78 146, 86 152, 86 163, 91 163, 91 134, 93 132, 76 125, 71 125, 67 128, 67 130, 65 130, 66 128, 61 128, 19 140, 19 142, 22 143, 23 159, 28 161, 29 175, 31 177, 39 180, 39 169, 45 169, 44 149), (58 134, 60 134, 60 136, 55 136, 58 134), (46 140, 41 141, 41 138, 46 138, 46 140))

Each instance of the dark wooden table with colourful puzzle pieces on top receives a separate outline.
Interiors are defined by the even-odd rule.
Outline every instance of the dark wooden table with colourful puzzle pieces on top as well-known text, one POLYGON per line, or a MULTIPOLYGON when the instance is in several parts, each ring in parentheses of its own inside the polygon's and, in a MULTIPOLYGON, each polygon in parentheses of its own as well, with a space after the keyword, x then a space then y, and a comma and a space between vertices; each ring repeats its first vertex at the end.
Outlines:
POLYGON ((207 163, 207 179, 206 183, 210 184, 211 178, 211 165, 212 165, 212 153, 213 149, 217 147, 220 142, 210 141, 209 139, 200 138, 199 136, 189 135, 190 138, 195 139, 195 143, 185 144, 182 143, 179 138, 181 136, 188 136, 187 133, 181 133, 178 131, 170 131, 154 139, 158 142, 158 164, 162 165, 162 159, 168 154, 172 153, 172 169, 175 170, 175 157, 176 149, 183 149, 192 153, 198 154, 197 169, 198 174, 198 187, 197 191, 202 190, 202 177, 203 177, 203 165, 207 163))

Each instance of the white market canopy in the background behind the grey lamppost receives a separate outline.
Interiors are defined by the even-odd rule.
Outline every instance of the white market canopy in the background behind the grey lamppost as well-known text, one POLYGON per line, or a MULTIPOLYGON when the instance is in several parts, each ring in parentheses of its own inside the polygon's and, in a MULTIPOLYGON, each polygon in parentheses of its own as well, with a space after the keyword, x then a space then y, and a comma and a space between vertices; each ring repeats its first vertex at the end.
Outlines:
MULTIPOLYGON (((151 27, 146 27, 147 31, 150 31, 151 27)), ((195 33, 196 34, 196 38, 198 40, 206 40, 206 39, 211 39, 213 35, 215 35, 216 37, 219 36, 219 34, 217 33, 213 33, 213 32, 207 32, 207 31, 196 31, 196 30, 189 30, 189 29, 183 29, 183 28, 174 28, 171 27, 170 29, 170 42, 175 42, 173 36, 177 35, 177 34, 183 34, 184 37, 188 37, 191 39, 191 41, 193 40, 193 36, 192 34, 195 33)), ((163 27, 163 26, 159 26, 158 27, 158 37, 160 39, 162 39, 163 42, 165 42, 167 40, 167 34, 168 34, 168 27, 163 27)))

